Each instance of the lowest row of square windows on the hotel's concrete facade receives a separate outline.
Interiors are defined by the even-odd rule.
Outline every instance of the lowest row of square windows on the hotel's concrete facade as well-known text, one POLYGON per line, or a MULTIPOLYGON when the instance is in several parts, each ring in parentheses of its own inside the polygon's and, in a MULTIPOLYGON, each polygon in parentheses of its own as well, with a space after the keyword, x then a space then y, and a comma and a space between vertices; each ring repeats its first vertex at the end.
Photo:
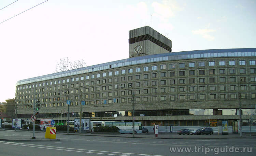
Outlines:
MULTIPOLYGON (((199 94, 198 95, 198 99, 200 100, 207 100, 207 96, 209 99, 216 99, 217 96, 219 96, 219 99, 227 99, 229 96, 230 99, 238 99, 239 95, 234 93, 230 93, 230 94, 227 94, 227 93, 219 93, 219 94, 199 94)), ((167 101, 168 96, 160 96, 159 97, 159 100, 158 100, 158 97, 157 96, 152 96, 151 97, 151 101, 167 101)), ((195 94, 191 94, 191 95, 170 95, 169 96, 169 100, 170 101, 177 101, 177 100, 197 100, 196 99, 197 95, 195 94)), ((241 94, 241 99, 246 99, 248 98, 247 97, 247 94, 241 94)), ((255 93, 252 93, 251 94, 251 97, 250 98, 256 98, 256 94, 255 93)), ((116 98, 116 99, 107 99, 107 100, 91 100, 91 101, 85 101, 85 105, 88 105, 88 104, 111 104, 111 103, 125 103, 126 102, 126 98, 116 98), (119 102, 119 99, 120 99, 120 102, 119 102)), ((148 102, 150 101, 150 97, 143 97, 143 98, 140 98, 140 97, 136 97, 134 98, 135 99, 135 102, 140 102, 141 99, 143 99, 144 102, 148 102)), ((132 102, 132 98, 128 98, 127 99, 128 102, 132 102)), ((79 102, 76 101, 76 102, 71 102, 71 106, 77 106, 79 105, 79 102)), ((53 103, 53 104, 41 104, 41 107, 55 107, 55 106, 67 106, 66 103, 64 102, 61 102, 61 103, 53 103)), ((23 106, 19 106, 19 109, 29 109, 29 108, 33 108, 33 105, 23 105, 23 106)))

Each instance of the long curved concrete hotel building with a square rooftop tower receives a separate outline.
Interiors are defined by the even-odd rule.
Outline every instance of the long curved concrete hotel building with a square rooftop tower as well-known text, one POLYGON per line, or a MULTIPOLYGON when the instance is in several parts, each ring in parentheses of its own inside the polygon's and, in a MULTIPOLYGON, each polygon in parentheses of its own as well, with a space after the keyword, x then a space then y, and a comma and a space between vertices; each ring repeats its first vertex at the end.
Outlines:
POLYGON ((134 120, 144 126, 230 123, 239 121, 240 106, 244 124, 255 114, 256 48, 171 47, 171 40, 146 26, 129 31, 130 58, 20 80, 17 117, 30 121, 35 99, 37 120, 55 122, 66 120, 68 99, 71 117, 79 117, 85 101, 82 117, 96 121, 132 121, 134 102, 134 120))

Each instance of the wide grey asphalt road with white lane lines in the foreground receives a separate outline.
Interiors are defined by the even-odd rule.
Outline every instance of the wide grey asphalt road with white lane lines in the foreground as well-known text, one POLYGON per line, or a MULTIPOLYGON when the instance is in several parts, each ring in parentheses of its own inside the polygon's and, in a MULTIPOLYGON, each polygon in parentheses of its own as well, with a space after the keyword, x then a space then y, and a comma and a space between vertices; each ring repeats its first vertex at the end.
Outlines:
MULTIPOLYGON (((0 136, 31 136, 31 133, 24 132, 0 131, 0 133, 0 136)), ((35 135, 38 138, 44 138, 43 133, 36 133, 35 135)), ((1 141, 0 156, 167 156, 205 155, 205 153, 207 153, 207 155, 256 155, 255 137, 251 139, 155 139, 58 135, 57 138, 60 139, 60 141, 1 141), (178 148, 183 148, 183 152, 179 152, 178 150, 182 149, 178 148), (185 150, 189 150, 189 148, 190 152, 186 152, 185 150), (245 148, 245 150, 243 150, 243 148, 245 148)))

